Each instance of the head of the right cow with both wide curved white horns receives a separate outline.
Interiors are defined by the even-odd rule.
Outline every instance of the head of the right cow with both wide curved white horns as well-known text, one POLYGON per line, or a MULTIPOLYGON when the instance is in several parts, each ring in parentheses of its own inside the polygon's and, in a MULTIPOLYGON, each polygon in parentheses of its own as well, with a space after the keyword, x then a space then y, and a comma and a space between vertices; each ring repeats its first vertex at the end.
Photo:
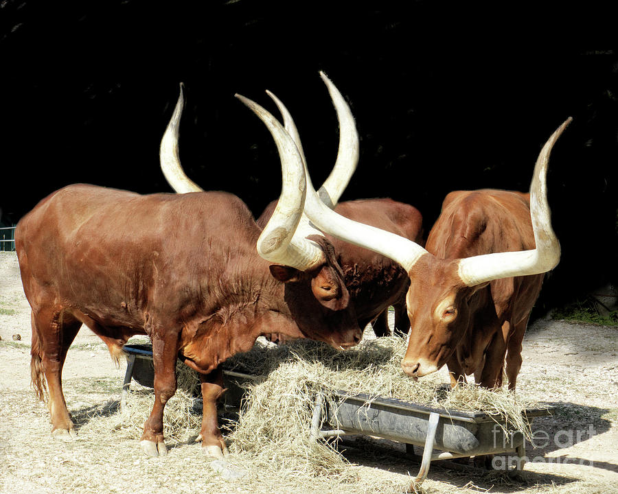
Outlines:
POLYGON ((539 274, 558 264, 560 244, 551 228, 545 176, 551 148, 570 121, 567 119, 545 143, 534 169, 530 187, 534 250, 437 259, 409 239, 348 220, 323 207, 308 180, 305 211, 314 224, 325 233, 390 257, 407 270, 411 333, 401 365, 408 375, 433 373, 453 355, 474 311, 470 307, 474 292, 492 280, 539 274))

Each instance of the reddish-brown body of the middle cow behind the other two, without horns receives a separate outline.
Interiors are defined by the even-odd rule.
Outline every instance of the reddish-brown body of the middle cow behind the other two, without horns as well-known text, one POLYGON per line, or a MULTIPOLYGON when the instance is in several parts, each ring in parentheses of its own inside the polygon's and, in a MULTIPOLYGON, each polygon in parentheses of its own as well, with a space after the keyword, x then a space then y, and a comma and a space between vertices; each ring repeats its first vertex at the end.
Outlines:
MULTIPOLYGON (((260 217, 258 225, 264 226, 271 217, 277 201, 273 201, 260 217)), ((423 244, 422 215, 413 206, 389 198, 361 199, 339 202, 334 211, 360 223, 406 237, 423 244)), ((343 242, 326 235, 334 246, 337 260, 343 269, 343 279, 350 292, 350 303, 356 311, 361 329, 369 322, 376 336, 388 336, 388 309, 395 309, 395 333, 407 335, 410 329, 406 309, 406 292, 410 279, 399 263, 389 257, 343 242)), ((285 336, 273 334, 271 340, 286 340, 285 336)))

